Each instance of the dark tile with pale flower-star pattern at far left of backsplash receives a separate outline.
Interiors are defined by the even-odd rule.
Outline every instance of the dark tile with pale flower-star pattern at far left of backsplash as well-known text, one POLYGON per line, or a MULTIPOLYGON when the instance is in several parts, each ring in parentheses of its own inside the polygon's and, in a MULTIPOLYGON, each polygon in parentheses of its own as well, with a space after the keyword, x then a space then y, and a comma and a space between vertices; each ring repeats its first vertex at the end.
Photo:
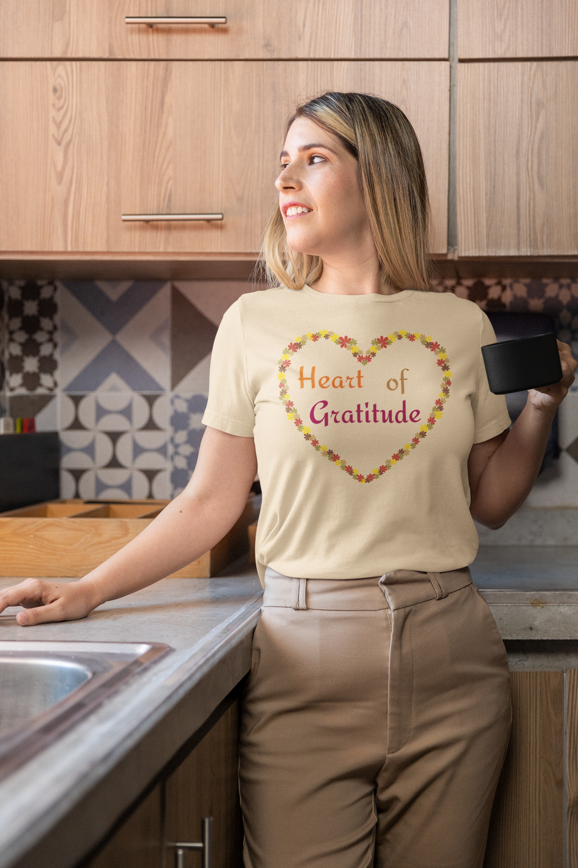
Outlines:
POLYGON ((7 385, 10 393, 54 392, 58 306, 52 281, 7 282, 7 385))

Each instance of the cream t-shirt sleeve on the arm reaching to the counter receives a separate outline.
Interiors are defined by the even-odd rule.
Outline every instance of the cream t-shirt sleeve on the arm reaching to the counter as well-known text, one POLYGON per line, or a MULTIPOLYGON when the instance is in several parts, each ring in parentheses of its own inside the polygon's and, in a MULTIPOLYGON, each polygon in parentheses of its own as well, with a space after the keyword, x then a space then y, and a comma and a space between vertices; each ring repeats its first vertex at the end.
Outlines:
POLYGON ((253 437, 255 396, 247 378, 244 333, 237 301, 224 314, 213 344, 209 400, 203 424, 237 437, 253 437))

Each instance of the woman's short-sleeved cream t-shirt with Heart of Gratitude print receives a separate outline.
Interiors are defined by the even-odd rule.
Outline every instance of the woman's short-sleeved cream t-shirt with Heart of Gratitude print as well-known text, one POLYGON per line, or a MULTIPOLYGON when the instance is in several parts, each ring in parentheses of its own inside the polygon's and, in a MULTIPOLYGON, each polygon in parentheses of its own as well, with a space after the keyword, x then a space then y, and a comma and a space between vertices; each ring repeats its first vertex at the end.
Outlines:
POLYGON ((441 572, 476 556, 467 460, 508 428, 480 346, 496 340, 451 293, 270 289, 224 314, 205 425, 255 437, 261 581, 441 572))

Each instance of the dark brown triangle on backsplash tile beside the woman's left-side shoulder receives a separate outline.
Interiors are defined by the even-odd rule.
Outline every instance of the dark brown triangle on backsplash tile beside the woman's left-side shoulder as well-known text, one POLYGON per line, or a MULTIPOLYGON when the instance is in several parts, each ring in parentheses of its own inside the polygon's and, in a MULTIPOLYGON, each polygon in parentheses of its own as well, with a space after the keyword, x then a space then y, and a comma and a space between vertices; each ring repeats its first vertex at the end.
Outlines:
POLYGON ((180 381, 198 363, 211 353, 217 326, 197 307, 185 299, 183 293, 172 287, 171 327, 171 387, 180 381))

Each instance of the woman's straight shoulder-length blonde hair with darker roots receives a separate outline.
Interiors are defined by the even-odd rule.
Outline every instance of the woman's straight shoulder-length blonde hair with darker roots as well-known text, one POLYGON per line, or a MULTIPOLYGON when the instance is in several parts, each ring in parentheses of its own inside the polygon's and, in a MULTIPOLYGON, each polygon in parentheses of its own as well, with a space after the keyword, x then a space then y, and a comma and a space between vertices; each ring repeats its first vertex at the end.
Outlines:
MULTIPOLYGON (((418 137, 392 102, 368 94, 328 92, 300 105, 287 124, 305 117, 335 135, 359 166, 381 291, 431 289, 427 181, 418 137)), ((277 202, 265 230, 261 260, 270 285, 302 289, 321 277, 319 256, 287 244, 277 202)))

